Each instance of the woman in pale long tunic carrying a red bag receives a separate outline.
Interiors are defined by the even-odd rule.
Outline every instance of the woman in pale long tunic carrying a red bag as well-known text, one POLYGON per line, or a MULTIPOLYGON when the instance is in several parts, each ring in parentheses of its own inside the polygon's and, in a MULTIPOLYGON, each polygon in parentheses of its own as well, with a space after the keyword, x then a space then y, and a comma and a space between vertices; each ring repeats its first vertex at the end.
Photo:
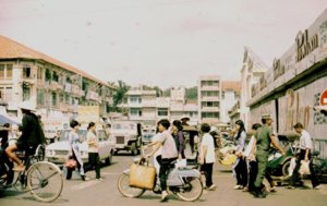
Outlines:
MULTIPOLYGON (((81 149, 80 149, 80 135, 78 135, 78 130, 80 130, 80 123, 76 120, 72 120, 70 123, 70 126, 73 129, 69 133, 69 143, 72 147, 72 159, 76 161, 77 169, 80 171, 81 178, 83 181, 85 181, 85 173, 84 173, 84 163, 82 160, 82 155, 81 155, 81 149)), ((66 173, 66 180, 70 180, 72 178, 72 169, 68 168, 68 173, 66 173)))

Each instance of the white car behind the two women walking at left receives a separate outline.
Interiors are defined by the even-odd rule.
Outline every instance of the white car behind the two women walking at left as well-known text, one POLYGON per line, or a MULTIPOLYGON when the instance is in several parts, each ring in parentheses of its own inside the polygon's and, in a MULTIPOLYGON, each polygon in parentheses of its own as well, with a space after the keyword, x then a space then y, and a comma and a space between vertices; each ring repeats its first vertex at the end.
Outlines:
MULTIPOLYGON (((46 158, 48 161, 63 165, 72 154, 71 145, 69 144, 69 133, 71 130, 63 130, 60 134, 59 142, 49 144, 46 147, 46 158)), ((86 143, 86 133, 84 129, 80 129, 80 136, 83 140, 80 143, 83 162, 88 162, 88 145, 86 143)), ((97 129, 97 138, 99 143, 100 160, 105 160, 106 165, 110 165, 114 153, 114 140, 110 138, 104 129, 97 129)))

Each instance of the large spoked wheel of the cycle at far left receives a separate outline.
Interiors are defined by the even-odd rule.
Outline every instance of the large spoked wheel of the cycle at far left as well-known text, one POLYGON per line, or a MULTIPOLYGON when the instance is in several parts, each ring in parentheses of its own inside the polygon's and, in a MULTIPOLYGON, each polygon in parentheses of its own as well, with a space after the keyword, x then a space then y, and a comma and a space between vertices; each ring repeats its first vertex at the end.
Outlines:
POLYGON ((27 189, 40 202, 52 202, 61 194, 63 180, 58 166, 39 161, 27 171, 27 189))

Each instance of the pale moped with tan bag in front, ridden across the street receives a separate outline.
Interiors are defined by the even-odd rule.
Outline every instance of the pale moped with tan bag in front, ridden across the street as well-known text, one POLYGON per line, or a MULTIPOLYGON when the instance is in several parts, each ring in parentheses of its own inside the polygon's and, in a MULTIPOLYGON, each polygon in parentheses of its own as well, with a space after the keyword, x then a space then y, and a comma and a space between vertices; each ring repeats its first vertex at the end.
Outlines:
MULTIPOLYGON (((141 159, 134 159, 134 163, 138 163, 141 159)), ((185 202, 197 201, 203 194, 202 174, 194 166, 175 167, 175 162, 170 166, 170 171, 167 179, 167 187, 170 194, 185 202)), ((155 184, 152 191, 155 194, 160 194, 160 182, 158 175, 155 178, 155 184)), ((130 169, 123 171, 118 179, 118 190, 126 197, 140 197, 145 193, 145 189, 140 189, 130 185, 130 169)))

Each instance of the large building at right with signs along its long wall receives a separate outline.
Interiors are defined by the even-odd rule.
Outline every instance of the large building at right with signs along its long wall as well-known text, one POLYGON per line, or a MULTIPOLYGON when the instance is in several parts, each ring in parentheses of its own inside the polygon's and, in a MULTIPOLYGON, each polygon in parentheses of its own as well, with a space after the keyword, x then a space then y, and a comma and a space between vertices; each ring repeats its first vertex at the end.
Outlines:
POLYGON ((326 140, 327 117, 314 108, 327 105, 327 10, 294 39, 252 86, 249 123, 270 113, 278 134, 302 122, 314 140, 326 140))

